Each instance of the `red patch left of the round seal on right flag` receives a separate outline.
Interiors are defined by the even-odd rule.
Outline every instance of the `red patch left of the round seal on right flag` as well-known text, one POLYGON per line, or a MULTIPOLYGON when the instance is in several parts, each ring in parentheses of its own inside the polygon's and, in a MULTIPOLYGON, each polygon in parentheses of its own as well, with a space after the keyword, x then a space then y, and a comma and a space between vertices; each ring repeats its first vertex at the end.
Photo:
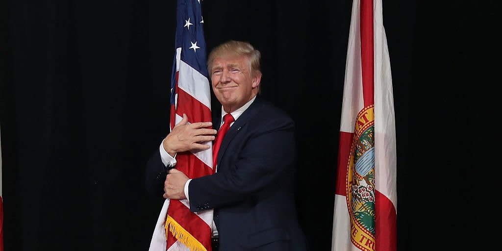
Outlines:
POLYGON ((340 132, 340 145, 338 149, 338 172, 336 174, 336 190, 338 195, 347 196, 345 189, 345 180, 347 177, 348 157, 350 155, 350 146, 354 139, 353 133, 340 132))

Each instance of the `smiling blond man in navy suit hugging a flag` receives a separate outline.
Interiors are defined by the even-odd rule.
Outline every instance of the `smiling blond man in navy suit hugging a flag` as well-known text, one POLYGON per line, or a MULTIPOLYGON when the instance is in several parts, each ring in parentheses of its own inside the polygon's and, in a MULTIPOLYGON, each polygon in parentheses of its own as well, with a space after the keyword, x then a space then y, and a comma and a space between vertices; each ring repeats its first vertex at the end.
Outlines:
MULTIPOLYGON (((245 42, 226 42, 210 53, 208 71, 222 105, 215 126, 230 125, 220 147, 213 148, 218 151, 216 172, 188 179, 171 169, 164 198, 186 198, 192 212, 214 209, 213 233, 220 251, 306 250, 293 192, 294 123, 285 112, 257 97, 260 52, 245 42)), ((216 131, 206 129, 210 126, 210 122, 187 124, 184 116, 173 128, 147 167, 152 192, 161 189, 161 162, 169 166, 176 162, 177 153, 209 148, 201 143, 215 139, 216 131)))

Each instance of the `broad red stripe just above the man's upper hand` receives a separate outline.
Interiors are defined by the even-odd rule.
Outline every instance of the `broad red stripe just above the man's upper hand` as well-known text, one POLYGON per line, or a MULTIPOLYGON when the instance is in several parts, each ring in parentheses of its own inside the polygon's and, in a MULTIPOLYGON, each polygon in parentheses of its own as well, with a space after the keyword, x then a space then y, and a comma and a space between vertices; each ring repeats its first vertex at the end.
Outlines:
POLYGON ((178 88, 178 105, 176 113, 183 117, 183 113, 187 114, 188 121, 208 122, 211 121, 211 110, 199 100, 192 97, 181 88, 178 88))

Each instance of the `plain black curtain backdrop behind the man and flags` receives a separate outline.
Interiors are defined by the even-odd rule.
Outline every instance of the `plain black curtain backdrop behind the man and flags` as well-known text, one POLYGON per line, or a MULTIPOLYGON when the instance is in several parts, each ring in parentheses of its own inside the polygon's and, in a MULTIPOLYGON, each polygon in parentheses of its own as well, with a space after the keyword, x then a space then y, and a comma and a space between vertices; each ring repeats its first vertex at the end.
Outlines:
MULTIPOLYGON (((209 49, 234 39, 262 52, 262 94, 297 125, 301 225, 311 250, 330 250, 351 1, 202 3, 209 49)), ((498 46, 491 3, 383 3, 399 250, 477 250, 480 222, 498 217, 476 199, 481 163, 497 157, 481 142, 496 126, 481 115, 496 93, 482 64, 498 46)), ((148 249, 163 198, 148 196, 143 172, 169 132, 175 8, 0 3, 6 251, 148 249)))

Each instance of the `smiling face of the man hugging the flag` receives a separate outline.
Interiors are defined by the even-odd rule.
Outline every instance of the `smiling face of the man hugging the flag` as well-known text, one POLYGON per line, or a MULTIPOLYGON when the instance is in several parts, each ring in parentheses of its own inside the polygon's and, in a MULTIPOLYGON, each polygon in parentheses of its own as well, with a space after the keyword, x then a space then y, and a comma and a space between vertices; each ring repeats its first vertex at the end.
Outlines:
POLYGON ((213 59, 211 84, 214 95, 226 112, 240 108, 258 93, 261 74, 252 74, 250 71, 249 62, 245 56, 213 59))

